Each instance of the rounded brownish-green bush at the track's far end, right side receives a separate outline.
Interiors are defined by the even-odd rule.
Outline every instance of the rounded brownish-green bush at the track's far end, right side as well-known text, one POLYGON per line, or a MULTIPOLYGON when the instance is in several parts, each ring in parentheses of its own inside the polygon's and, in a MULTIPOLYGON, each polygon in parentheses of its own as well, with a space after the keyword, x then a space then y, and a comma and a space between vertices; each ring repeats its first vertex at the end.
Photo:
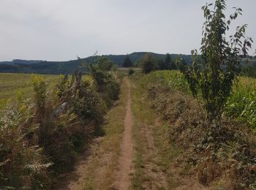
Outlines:
POLYGON ((146 53, 145 56, 140 59, 139 63, 141 65, 142 72, 145 74, 157 69, 157 60, 151 53, 146 53))

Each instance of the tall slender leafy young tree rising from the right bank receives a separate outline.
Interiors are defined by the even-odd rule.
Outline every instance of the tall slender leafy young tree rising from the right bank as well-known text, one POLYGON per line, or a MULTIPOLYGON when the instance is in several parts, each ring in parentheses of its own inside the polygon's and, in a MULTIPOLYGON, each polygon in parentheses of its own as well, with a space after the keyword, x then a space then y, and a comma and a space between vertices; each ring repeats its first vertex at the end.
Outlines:
POLYGON ((192 50, 192 66, 184 69, 193 96, 203 101, 206 109, 208 126, 218 129, 221 125, 222 110, 230 96, 233 80, 236 77, 241 58, 247 56, 251 47, 251 38, 244 37, 246 25, 238 26, 236 33, 229 38, 225 36, 230 23, 241 15, 242 9, 235 8, 233 15, 225 20, 226 0, 215 1, 203 6, 203 38, 200 56, 192 50), (198 58, 200 57, 200 58, 198 58))

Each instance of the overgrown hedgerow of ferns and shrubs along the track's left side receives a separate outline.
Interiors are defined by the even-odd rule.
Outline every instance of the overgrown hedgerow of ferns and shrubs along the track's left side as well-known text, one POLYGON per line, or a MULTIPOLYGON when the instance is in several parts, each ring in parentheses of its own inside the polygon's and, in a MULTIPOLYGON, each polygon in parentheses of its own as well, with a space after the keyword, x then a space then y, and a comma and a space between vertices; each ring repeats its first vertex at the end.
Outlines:
POLYGON ((54 91, 34 75, 33 99, 10 102, 0 113, 1 189, 49 189, 59 174, 72 169, 78 153, 99 132, 108 107, 118 99, 119 84, 110 61, 61 76, 54 91))

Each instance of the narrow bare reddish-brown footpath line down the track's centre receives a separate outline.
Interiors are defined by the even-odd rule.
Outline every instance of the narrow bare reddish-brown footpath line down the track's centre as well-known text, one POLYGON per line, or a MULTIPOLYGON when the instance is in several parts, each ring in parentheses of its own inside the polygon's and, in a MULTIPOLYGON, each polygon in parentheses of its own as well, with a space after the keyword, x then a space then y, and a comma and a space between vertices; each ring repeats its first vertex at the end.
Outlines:
POLYGON ((124 119, 124 133, 121 141, 121 156, 118 159, 118 172, 117 172, 117 189, 129 189, 130 186, 130 174, 132 173, 132 110, 131 110, 131 96, 130 96, 130 84, 126 81, 128 86, 127 96, 127 113, 124 119))

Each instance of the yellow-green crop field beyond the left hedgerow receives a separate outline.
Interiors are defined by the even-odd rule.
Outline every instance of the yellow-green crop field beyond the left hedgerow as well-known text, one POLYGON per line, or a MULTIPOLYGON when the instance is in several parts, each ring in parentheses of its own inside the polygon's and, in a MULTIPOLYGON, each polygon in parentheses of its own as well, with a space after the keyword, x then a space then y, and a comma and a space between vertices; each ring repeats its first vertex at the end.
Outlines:
MULTIPOLYGON (((23 96, 29 98, 32 96, 31 74, 0 74, 0 107, 8 99, 15 99, 17 91, 21 91, 23 96)), ((45 78, 48 88, 55 86, 59 75, 40 75, 45 78)))

